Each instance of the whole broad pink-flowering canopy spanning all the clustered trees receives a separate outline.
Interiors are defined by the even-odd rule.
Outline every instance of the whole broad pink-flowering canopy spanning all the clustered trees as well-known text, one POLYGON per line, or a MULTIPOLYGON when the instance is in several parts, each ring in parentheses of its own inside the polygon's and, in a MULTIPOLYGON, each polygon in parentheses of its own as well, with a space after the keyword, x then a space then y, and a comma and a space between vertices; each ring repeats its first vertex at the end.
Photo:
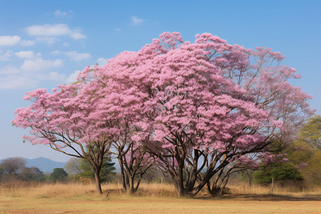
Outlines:
POLYGON ((291 143, 313 113, 312 97, 289 83, 300 74, 272 49, 245 49, 206 33, 195 38, 165 32, 137 52, 88 66, 54 93, 26 93, 33 104, 17 109, 13 123, 31 128, 24 137, 31 143, 64 153, 69 147, 99 170, 115 146, 123 180, 156 163, 179 195, 210 186, 230 163, 273 161, 275 143, 291 143), (95 146, 98 158, 83 145, 95 146))

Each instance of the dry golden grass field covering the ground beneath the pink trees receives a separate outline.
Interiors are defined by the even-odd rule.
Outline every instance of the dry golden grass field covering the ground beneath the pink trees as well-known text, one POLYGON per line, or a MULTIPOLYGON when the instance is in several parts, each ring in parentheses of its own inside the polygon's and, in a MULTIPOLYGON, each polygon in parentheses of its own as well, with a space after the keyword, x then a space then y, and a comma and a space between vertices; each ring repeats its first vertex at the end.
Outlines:
POLYGON ((302 192, 245 185, 230 187, 231 194, 178 198, 170 184, 145 184, 135 195, 121 185, 103 185, 97 195, 92 184, 2 184, 0 213, 321 213, 321 189, 302 192), (108 193, 108 197, 106 197, 108 193))

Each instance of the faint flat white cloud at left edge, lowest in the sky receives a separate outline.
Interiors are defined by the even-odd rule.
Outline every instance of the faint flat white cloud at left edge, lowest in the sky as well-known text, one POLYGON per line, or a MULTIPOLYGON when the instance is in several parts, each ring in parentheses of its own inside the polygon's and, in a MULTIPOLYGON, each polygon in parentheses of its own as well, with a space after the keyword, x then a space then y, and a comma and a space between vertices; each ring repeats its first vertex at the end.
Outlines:
POLYGON ((38 83, 29 76, 0 76, 0 89, 34 88, 38 83))

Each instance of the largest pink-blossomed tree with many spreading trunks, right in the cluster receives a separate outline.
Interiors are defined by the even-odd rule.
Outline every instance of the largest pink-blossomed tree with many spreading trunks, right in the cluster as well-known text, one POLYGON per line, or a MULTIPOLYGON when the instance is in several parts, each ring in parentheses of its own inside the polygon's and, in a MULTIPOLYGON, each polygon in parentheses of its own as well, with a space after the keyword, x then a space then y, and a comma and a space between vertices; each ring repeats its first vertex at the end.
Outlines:
POLYGON ((288 83, 300 75, 282 58, 211 34, 190 43, 164 33, 96 75, 123 99, 117 108, 135 116, 132 140, 158 158, 179 195, 192 196, 240 157, 290 143, 312 114, 311 97, 288 83))

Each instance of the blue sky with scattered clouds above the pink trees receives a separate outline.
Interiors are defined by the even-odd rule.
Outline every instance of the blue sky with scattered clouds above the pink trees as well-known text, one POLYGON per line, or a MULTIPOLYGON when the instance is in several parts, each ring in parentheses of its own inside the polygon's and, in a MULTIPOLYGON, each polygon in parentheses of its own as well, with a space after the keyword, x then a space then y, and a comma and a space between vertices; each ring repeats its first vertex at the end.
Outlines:
POLYGON ((22 143, 11 126, 26 91, 70 83, 87 65, 138 51, 163 31, 185 41, 208 32, 229 44, 267 46, 302 79, 320 114, 321 1, 15 1, 0 0, 0 159, 67 161, 46 146, 22 143))

